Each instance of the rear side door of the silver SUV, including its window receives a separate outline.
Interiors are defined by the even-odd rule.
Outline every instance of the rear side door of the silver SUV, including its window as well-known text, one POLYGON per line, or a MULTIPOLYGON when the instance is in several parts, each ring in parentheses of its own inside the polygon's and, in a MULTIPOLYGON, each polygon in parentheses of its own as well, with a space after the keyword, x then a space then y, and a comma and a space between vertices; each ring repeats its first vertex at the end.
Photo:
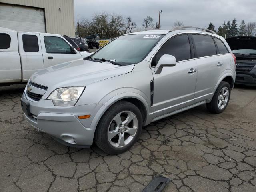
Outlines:
POLYGON ((195 102, 212 98, 220 74, 223 71, 223 58, 217 55, 213 37, 206 34, 192 34, 198 65, 195 102))

